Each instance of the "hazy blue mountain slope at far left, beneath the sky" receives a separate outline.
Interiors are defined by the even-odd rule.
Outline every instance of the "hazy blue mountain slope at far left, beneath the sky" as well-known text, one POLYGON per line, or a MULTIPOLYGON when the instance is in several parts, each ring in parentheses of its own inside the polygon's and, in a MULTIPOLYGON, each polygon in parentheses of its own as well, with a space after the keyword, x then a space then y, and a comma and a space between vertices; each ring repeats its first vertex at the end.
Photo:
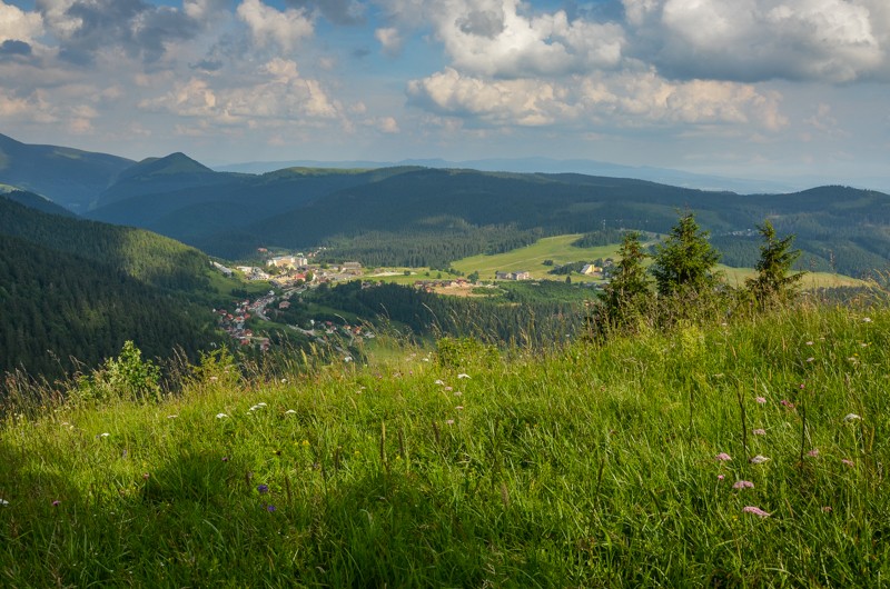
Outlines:
POLYGON ((58 146, 32 146, 0 134, 0 183, 85 211, 132 160, 58 146))

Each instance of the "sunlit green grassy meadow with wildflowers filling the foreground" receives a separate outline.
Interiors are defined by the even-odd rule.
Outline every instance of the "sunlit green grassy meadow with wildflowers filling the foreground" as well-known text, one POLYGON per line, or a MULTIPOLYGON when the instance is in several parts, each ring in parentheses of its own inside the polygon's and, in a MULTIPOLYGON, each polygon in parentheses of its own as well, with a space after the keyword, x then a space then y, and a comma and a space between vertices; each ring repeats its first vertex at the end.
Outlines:
POLYGON ((804 309, 19 408, 0 585, 887 586, 889 335, 804 309))

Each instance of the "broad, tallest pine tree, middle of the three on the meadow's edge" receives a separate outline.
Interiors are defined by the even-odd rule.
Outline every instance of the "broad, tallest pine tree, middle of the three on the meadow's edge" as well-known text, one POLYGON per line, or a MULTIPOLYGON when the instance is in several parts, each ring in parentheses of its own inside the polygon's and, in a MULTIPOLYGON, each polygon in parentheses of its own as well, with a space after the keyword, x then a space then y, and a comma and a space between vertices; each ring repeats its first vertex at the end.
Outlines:
POLYGON ((714 266, 720 252, 708 241, 692 212, 680 218, 664 243, 656 247, 650 271, 655 277, 659 294, 703 294, 719 282, 714 266))

